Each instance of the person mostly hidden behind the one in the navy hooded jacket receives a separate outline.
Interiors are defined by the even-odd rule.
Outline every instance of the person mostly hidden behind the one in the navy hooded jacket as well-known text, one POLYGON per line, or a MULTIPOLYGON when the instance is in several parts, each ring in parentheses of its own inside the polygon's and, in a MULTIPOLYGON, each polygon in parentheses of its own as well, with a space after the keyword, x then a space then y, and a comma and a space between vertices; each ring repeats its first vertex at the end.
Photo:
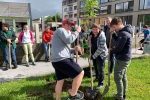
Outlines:
MULTIPOLYGON (((110 40, 110 36, 111 36, 110 23, 112 21, 112 18, 107 17, 105 21, 106 21, 106 25, 104 26, 104 32, 105 32, 105 36, 106 36, 106 44, 107 44, 107 48, 111 48, 109 43, 110 43, 110 41, 111 41, 111 45, 113 43, 113 40, 110 40)), ((115 33, 113 35, 115 35, 115 33)), ((109 71, 110 71, 110 73, 112 73, 113 68, 114 68, 114 63, 115 63, 115 55, 112 52, 110 52, 110 54, 109 54, 109 60, 110 60, 109 71)))

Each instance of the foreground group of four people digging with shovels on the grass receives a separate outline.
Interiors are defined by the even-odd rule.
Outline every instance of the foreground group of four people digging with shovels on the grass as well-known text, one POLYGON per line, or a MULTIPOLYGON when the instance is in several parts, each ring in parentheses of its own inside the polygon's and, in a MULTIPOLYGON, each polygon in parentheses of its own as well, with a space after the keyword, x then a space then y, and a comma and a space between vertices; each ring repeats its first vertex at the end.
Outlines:
MULTIPOLYGON (((103 29, 93 23, 88 41, 91 44, 91 57, 96 73, 98 87, 104 86, 104 64, 107 56, 110 61, 109 71, 114 69, 114 81, 117 87, 116 100, 125 100, 127 91, 127 68, 131 62, 132 28, 125 26, 119 17, 106 18, 107 25, 103 29)), ((72 78, 72 87, 68 90, 68 100, 82 100, 84 93, 79 90, 84 77, 83 69, 72 59, 72 52, 80 52, 82 48, 71 44, 82 33, 81 27, 76 26, 69 19, 62 22, 53 35, 51 48, 51 62, 55 69, 57 83, 55 86, 56 100, 61 100, 62 87, 66 78, 72 78)))

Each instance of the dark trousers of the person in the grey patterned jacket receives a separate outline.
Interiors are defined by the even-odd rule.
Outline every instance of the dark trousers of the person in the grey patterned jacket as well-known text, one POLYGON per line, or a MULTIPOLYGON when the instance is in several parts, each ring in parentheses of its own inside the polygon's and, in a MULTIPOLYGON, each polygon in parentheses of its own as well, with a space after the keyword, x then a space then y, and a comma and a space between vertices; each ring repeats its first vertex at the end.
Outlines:
POLYGON ((104 64, 105 64, 105 59, 102 59, 101 57, 97 57, 96 59, 93 59, 96 79, 98 79, 99 85, 103 84, 103 80, 104 80, 104 64))

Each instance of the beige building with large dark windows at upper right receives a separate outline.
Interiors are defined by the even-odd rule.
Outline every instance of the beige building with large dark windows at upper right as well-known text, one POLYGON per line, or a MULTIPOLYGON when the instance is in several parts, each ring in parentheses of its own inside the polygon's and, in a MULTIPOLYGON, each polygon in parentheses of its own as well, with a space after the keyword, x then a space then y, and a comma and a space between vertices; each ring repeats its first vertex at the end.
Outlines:
MULTIPOLYGON (((94 18, 95 23, 104 25, 106 17, 121 17, 125 24, 139 26, 140 23, 150 25, 150 0, 99 0, 99 14, 94 18)), ((84 6, 79 1, 79 6, 84 6)), ((85 20, 82 10, 80 18, 85 20)))

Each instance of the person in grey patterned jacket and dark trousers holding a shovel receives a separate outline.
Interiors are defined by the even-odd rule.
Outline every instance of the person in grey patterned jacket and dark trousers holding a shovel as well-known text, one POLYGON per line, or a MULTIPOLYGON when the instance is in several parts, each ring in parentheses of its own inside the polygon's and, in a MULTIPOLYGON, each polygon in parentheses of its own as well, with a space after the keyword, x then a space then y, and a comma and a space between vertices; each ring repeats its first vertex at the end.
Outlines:
POLYGON ((91 58, 96 72, 96 80, 98 80, 98 87, 101 88, 104 85, 104 64, 108 54, 106 37, 97 24, 92 25, 91 35, 91 58))

